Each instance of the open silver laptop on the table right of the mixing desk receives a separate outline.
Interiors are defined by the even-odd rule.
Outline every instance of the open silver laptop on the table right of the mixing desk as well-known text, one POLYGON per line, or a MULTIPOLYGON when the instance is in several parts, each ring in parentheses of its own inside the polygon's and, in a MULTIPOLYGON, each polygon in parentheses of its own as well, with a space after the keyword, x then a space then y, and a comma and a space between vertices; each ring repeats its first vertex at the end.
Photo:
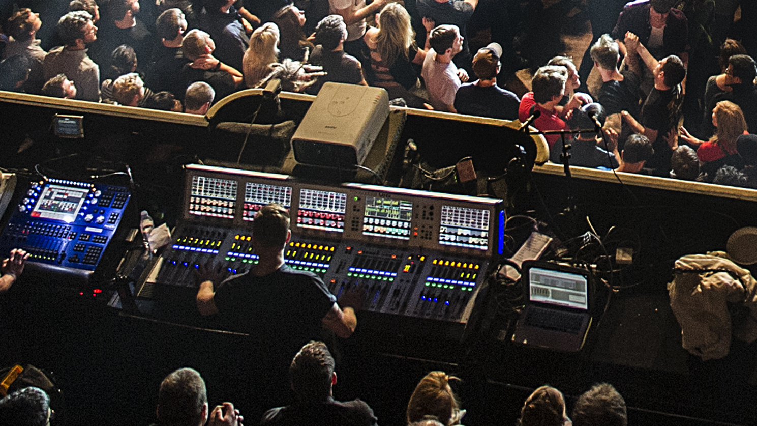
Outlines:
POLYGON ((512 341, 544 349, 578 352, 591 324, 591 273, 553 262, 522 265, 525 309, 512 341))

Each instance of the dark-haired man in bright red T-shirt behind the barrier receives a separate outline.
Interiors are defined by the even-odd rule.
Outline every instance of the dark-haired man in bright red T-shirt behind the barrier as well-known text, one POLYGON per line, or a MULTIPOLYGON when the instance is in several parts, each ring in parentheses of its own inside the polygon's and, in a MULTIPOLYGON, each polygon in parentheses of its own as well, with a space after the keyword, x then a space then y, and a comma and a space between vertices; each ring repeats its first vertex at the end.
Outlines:
MULTIPOLYGON (((547 65, 536 70, 534 78, 531 79, 532 91, 521 99, 518 119, 525 123, 528 117, 539 111, 539 117, 533 123, 538 130, 565 130, 565 121, 559 117, 555 107, 565 94, 566 80, 568 72, 565 67, 547 65)), ((551 152, 559 135, 545 135, 545 138, 551 152)))

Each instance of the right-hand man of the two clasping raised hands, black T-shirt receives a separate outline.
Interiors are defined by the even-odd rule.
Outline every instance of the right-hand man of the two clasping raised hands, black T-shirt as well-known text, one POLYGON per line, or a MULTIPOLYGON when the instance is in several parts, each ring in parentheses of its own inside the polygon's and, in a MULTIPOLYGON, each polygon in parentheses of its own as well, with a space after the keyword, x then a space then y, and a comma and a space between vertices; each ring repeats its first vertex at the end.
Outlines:
MULTIPOLYGON (((642 133, 652 141, 654 155, 646 167, 651 168, 656 176, 668 177, 671 154, 678 148, 676 129, 684 96, 680 84, 686 77, 686 67, 675 55, 657 61, 632 33, 628 33, 625 40, 629 51, 637 52, 652 72, 654 88, 641 108, 640 122, 627 111, 622 112, 622 117, 634 132, 642 133)), ((634 67, 633 64, 630 66, 634 67)))

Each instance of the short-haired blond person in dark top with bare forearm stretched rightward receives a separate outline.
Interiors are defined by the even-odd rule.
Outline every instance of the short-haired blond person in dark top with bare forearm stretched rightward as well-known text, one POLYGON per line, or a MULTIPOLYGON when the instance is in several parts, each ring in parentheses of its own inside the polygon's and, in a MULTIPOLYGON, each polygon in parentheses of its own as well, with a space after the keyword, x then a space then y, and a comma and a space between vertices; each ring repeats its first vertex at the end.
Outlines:
POLYGON ((217 99, 235 92, 242 81, 241 73, 213 57, 216 45, 210 35, 201 30, 191 30, 182 39, 184 57, 192 62, 182 68, 185 86, 195 81, 204 81, 213 86, 217 99))

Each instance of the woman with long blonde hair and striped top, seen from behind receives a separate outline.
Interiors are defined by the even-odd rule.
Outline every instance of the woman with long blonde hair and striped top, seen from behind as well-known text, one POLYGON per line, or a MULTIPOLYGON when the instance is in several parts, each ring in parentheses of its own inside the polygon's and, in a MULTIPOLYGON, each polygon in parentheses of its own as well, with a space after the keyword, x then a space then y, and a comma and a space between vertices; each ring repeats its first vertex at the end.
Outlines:
POLYGON ((413 64, 422 65, 425 59, 425 52, 416 46, 410 14, 392 2, 379 12, 377 22, 378 28, 363 36, 371 51, 371 86, 386 89, 389 99, 404 98, 407 105, 423 108, 423 100, 410 92, 419 83, 413 64))

